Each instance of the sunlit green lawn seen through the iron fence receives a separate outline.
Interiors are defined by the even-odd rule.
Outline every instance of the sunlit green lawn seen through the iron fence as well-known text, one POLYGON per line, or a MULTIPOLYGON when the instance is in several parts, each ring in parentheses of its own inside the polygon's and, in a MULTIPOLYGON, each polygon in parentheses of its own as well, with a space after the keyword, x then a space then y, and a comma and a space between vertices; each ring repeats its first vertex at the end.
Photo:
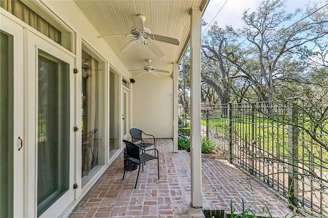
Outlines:
MULTIPOLYGON (((206 119, 201 120, 201 124, 206 126, 206 119)), ((228 119, 209 118, 209 128, 217 134, 228 134, 228 119)), ((238 144, 254 144, 254 149, 260 149, 280 157, 288 157, 288 125, 278 123, 273 120, 254 118, 234 118, 232 122, 233 139, 238 140, 238 144), (253 141, 252 141, 253 140, 253 141)), ((328 141, 328 139, 326 139, 328 141)), ((328 171, 328 154, 319 145, 315 144, 311 137, 304 132, 298 134, 298 158, 304 164, 314 158, 317 165, 322 165, 324 171, 328 171), (322 153, 322 156, 319 154, 322 153)))

